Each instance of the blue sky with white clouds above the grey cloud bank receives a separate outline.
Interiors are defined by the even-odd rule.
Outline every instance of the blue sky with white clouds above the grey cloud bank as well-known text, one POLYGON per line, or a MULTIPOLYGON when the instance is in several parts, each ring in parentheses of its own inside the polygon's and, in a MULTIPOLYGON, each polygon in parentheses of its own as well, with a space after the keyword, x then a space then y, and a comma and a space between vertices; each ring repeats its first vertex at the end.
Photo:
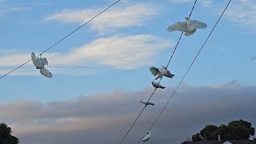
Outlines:
MULTIPOLYGON (((113 2, 0 0, 0 75, 30 60, 32 51, 46 50, 113 2)), ((197 2, 190 18, 206 22, 207 28, 182 37, 169 67, 175 76, 163 78, 163 86, 178 84, 227 2, 197 2)), ((53 78, 43 77, 30 62, 0 79, 2 105, 151 90, 153 75, 148 68, 167 64, 180 35, 166 28, 183 22, 193 4, 191 0, 118 2, 42 55, 53 78)), ((255 7, 253 0, 231 2, 184 85, 254 86, 255 7)))

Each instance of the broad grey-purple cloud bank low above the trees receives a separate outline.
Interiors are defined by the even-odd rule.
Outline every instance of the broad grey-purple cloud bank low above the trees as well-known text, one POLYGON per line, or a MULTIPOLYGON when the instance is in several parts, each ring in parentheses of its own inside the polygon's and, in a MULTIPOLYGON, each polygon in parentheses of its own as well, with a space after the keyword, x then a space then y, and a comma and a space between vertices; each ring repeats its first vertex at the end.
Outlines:
MULTIPOLYGON (((228 83, 238 87, 182 86, 151 131, 148 143, 181 143, 206 124, 219 126, 239 118, 255 127, 256 115, 251 111, 256 109, 256 86, 228 83)), ((56 102, 0 103, 0 118, 26 144, 117 143, 142 110, 142 96, 149 96, 152 91, 150 87, 56 102)), ((142 138, 172 91, 166 88, 155 93, 151 101, 156 105, 146 107, 125 142, 134 143, 142 138)))

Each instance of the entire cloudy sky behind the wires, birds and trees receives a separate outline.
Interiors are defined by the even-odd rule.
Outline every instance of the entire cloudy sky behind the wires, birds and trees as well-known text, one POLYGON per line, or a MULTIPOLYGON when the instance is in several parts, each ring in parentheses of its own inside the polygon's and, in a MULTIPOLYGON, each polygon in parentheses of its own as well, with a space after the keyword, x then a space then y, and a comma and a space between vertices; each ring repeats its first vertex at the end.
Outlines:
MULTIPOLYGON (((82 26, 114 0, 0 0, 0 76, 82 26)), ((190 19, 205 30, 182 36, 157 90, 124 143, 146 134, 227 4, 201 0, 190 19)), ((26 144, 120 142, 154 87, 149 67, 166 66, 192 0, 121 0, 42 54, 53 78, 32 62, 0 79, 0 119, 26 144)), ((206 124, 243 119, 256 126, 256 2, 233 0, 159 118, 147 143, 180 143, 206 124)))

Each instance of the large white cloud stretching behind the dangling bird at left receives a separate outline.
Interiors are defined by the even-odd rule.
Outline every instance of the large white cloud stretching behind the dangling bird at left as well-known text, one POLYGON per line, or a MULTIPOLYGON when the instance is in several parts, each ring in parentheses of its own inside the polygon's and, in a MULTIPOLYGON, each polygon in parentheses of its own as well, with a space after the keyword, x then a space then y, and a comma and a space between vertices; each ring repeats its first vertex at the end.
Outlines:
MULTIPOLYGON (((151 34, 114 35, 108 38, 95 39, 89 44, 75 47, 67 53, 46 53, 42 57, 48 59, 49 66, 47 67, 50 67, 49 70, 55 74, 69 74, 68 70, 76 70, 78 73, 80 70, 81 74, 90 74, 90 69, 129 70, 148 66, 154 63, 153 59, 161 50, 172 46, 174 46, 174 42, 171 40, 158 38, 151 34), (86 67, 87 70, 83 72, 81 67, 83 70, 86 67)), ((2 72, 6 69, 9 70, 10 66, 19 66, 28 60, 30 60, 30 52, 2 54, 0 72, 1 70, 2 72)), ((32 62, 30 62, 31 65, 32 62)))

